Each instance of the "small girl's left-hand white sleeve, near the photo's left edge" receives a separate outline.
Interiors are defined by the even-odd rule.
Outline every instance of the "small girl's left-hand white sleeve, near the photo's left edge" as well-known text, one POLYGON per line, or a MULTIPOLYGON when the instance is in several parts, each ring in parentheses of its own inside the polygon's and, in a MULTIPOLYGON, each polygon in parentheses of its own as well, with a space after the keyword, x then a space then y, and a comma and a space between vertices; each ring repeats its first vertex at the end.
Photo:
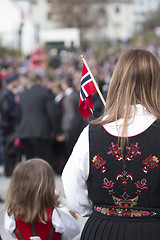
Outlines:
POLYGON ((4 215, 4 228, 6 232, 13 238, 16 238, 16 235, 14 234, 14 230, 16 229, 16 221, 14 216, 8 216, 7 212, 5 212, 4 215))

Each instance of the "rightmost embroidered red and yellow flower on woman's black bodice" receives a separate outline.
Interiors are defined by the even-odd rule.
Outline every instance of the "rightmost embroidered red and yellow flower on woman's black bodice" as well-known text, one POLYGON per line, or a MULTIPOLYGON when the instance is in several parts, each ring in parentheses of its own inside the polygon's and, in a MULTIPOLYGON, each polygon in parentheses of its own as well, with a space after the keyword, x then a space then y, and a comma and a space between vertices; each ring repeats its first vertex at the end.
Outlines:
POLYGON ((145 165, 142 170, 144 173, 149 173, 150 169, 154 169, 155 167, 159 167, 158 163, 159 160, 156 156, 153 156, 150 154, 148 158, 142 161, 142 163, 145 165))

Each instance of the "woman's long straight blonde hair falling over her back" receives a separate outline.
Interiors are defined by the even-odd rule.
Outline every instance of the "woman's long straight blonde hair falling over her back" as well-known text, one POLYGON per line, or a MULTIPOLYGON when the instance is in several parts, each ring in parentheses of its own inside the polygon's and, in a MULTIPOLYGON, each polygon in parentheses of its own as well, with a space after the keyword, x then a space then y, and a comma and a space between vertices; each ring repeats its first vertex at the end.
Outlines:
POLYGON ((131 106, 135 108, 136 104, 160 118, 160 63, 144 49, 130 49, 120 57, 111 78, 104 114, 94 122, 101 125, 123 118, 122 149, 131 106))

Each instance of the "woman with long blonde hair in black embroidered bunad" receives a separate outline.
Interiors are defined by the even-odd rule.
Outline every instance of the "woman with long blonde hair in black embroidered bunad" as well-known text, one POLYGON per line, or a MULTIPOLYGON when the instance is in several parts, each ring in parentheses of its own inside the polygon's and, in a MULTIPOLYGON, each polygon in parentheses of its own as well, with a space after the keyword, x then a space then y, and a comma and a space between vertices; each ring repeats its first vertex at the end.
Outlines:
POLYGON ((63 170, 69 206, 89 216, 81 240, 160 239, 159 73, 151 52, 122 54, 103 116, 83 130, 63 170))

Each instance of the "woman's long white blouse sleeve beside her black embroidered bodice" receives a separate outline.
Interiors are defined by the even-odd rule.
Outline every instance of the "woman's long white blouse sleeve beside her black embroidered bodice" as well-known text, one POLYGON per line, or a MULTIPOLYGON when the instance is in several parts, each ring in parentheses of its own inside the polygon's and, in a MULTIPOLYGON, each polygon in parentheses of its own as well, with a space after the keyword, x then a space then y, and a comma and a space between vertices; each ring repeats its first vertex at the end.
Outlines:
POLYGON ((62 182, 69 207, 80 216, 92 213, 92 202, 88 197, 89 175, 89 126, 85 127, 62 172, 62 182))

